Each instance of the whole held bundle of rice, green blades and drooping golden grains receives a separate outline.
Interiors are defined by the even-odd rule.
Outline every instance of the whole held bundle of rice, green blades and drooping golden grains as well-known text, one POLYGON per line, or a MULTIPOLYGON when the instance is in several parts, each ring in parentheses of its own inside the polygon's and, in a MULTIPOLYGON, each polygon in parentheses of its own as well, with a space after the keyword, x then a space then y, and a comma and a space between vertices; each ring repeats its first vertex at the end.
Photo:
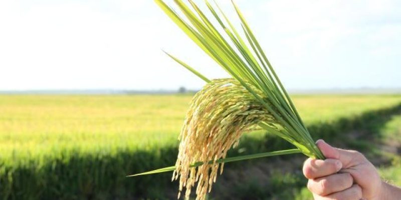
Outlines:
POLYGON ((225 162, 298 152, 309 157, 324 158, 233 1, 246 39, 243 39, 216 2, 212 6, 205 0, 220 27, 191 0, 188 0, 189 4, 174 0, 186 19, 163 0, 155 2, 232 77, 209 80, 167 53, 207 84, 190 102, 179 135, 179 152, 175 166, 130 176, 173 170, 172 178, 179 178, 178 198, 183 187, 186 187, 185 199, 188 199, 191 187, 197 182, 196 199, 205 199, 212 183, 216 181, 219 167, 220 173, 223 172, 225 162), (226 158, 227 151, 238 144, 241 135, 255 129, 265 129, 297 148, 226 158))

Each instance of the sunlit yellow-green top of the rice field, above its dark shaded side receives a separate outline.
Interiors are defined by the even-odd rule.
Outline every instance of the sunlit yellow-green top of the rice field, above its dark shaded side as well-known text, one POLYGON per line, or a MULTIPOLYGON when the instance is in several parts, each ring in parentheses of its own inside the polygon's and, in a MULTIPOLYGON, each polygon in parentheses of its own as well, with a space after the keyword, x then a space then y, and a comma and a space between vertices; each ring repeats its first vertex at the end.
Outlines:
MULTIPOLYGON (((176 142, 190 95, 1 95, 0 155, 176 142)), ((305 123, 393 106, 401 96, 298 95, 305 123)), ((313 132, 311 133, 313 136, 313 132)))

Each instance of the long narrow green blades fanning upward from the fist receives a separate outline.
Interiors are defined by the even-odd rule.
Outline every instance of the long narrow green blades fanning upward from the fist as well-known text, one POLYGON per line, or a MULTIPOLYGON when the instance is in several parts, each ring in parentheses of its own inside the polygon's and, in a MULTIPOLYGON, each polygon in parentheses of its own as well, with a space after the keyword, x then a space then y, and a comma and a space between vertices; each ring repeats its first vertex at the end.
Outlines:
MULTIPOLYGON (((222 20, 208 0, 205 0, 212 15, 224 29, 224 32, 228 36, 227 38, 231 40, 230 42, 225 39, 221 31, 215 27, 206 14, 191 0, 188 0, 191 6, 188 6, 183 0, 173 0, 186 19, 178 15, 163 0, 155 1, 200 48, 255 96, 255 99, 262 103, 282 127, 282 131, 278 132, 271 128, 269 130, 268 127, 264 129, 290 141, 308 156, 324 158, 316 144, 314 144, 290 96, 234 1, 234 8, 240 18, 250 47, 248 47, 245 40, 242 39, 217 3, 216 6, 219 8, 225 21, 222 20), (225 22, 228 23, 228 26, 225 25, 225 22), (263 94, 255 92, 253 88, 260 89, 263 94)), ((170 54, 169 56, 200 78, 209 81, 209 79, 183 61, 170 54)))

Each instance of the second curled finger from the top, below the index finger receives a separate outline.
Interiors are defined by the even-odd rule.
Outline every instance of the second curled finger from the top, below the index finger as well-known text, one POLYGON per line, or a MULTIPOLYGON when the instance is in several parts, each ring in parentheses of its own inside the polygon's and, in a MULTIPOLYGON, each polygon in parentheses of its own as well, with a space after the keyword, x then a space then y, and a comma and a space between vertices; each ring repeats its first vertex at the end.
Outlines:
POLYGON ((326 177, 309 179, 308 189, 318 195, 328 195, 334 192, 348 189, 353 184, 353 178, 349 173, 335 173, 326 177))

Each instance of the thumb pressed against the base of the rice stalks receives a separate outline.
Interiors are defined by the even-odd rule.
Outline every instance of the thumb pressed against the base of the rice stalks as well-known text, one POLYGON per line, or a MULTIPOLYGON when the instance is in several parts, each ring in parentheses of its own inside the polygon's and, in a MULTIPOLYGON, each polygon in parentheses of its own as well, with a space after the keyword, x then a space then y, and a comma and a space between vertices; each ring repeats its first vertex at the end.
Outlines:
POLYGON ((357 162, 359 157, 361 157, 361 153, 357 151, 335 148, 326 143, 323 139, 317 140, 316 145, 326 158, 339 159, 344 168, 347 168, 354 162, 357 162))

